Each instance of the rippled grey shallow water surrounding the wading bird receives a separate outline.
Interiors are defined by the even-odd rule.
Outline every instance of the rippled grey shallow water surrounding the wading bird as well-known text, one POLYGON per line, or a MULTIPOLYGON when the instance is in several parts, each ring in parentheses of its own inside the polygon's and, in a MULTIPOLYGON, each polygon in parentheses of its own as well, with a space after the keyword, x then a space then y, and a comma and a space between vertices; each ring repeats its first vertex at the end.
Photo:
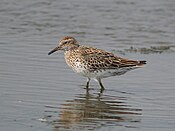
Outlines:
POLYGON ((0 130, 173 131, 174 14, 173 0, 0 1, 0 130), (65 35, 148 64, 87 92, 63 53, 47 55, 65 35))

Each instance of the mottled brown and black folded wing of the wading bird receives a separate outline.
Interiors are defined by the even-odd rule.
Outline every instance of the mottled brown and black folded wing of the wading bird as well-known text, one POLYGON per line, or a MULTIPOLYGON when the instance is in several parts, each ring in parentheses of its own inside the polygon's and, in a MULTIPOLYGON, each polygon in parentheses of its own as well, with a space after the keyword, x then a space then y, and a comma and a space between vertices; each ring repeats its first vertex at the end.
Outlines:
POLYGON ((128 60, 125 58, 117 57, 113 53, 106 52, 104 50, 92 47, 83 48, 86 49, 83 50, 82 56, 90 69, 116 69, 137 65, 141 66, 145 64, 145 61, 128 60))

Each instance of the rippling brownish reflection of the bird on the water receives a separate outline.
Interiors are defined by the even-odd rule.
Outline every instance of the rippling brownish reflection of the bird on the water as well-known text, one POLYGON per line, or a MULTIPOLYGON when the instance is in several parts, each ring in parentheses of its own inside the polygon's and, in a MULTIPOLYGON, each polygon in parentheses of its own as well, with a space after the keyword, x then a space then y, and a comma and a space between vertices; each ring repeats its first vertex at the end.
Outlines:
POLYGON ((52 120, 54 131, 94 130, 103 126, 137 128, 142 110, 128 105, 126 97, 99 94, 79 94, 62 104, 59 117, 52 120))

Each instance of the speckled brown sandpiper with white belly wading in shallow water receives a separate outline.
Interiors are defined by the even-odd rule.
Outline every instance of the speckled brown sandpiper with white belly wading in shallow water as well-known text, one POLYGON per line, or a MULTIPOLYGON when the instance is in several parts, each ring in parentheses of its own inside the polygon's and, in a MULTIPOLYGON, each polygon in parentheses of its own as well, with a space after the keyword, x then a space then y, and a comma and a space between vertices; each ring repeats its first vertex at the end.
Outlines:
POLYGON ((103 78, 123 75, 146 64, 145 60, 130 60, 102 49, 81 45, 72 36, 63 37, 48 55, 59 50, 64 52, 65 61, 74 72, 87 77, 87 89, 91 79, 97 81, 104 90, 103 78))

